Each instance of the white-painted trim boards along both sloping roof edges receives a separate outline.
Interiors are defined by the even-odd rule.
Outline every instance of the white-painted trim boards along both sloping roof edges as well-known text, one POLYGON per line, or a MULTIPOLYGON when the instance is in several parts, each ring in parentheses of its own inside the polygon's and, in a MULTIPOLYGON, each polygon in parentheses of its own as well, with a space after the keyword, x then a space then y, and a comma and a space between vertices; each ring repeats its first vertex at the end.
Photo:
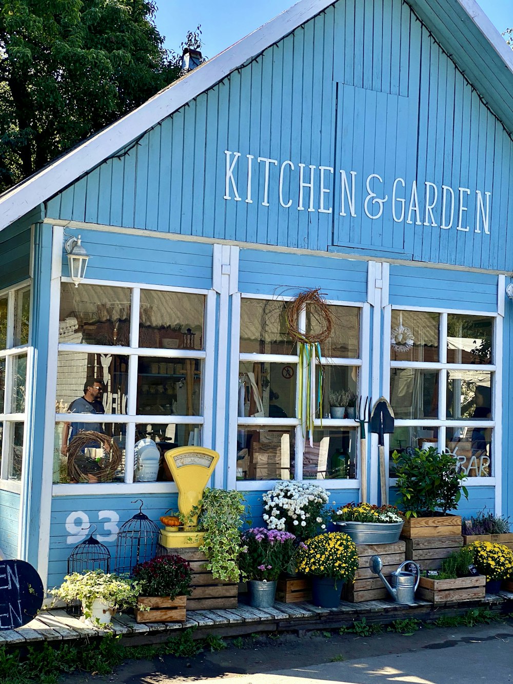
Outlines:
MULTIPOLYGON (((242 38, 185 77, 171 83, 130 114, 114 122, 89 140, 36 172, 0 198, 0 231, 73 183, 82 174, 114 155, 144 131, 155 126, 187 102, 209 90, 235 69, 258 55, 283 36, 334 4, 335 0, 300 0, 289 10, 242 38)), ((505 43, 475 0, 457 0, 490 46, 513 73, 513 51, 505 43)))

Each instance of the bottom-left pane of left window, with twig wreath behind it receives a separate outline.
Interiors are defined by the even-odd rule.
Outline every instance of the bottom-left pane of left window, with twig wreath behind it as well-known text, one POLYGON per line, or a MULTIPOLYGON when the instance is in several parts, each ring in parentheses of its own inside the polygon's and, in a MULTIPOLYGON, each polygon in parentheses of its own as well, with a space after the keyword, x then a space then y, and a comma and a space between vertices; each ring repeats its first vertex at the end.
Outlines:
POLYGON ((53 482, 123 482, 125 434, 118 423, 55 423, 53 482), (106 435, 107 448, 86 431, 106 435))

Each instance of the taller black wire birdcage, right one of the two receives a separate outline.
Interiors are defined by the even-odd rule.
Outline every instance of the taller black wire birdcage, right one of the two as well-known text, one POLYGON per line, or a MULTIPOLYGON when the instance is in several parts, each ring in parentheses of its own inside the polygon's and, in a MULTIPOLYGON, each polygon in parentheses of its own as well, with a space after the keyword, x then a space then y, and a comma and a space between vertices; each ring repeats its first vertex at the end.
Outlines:
MULTIPOLYGON (((157 554, 160 529, 142 512, 143 501, 140 501, 139 512, 121 525, 116 540, 116 562, 114 572, 132 573, 137 563, 151 560, 157 554)), ((132 501, 132 503, 136 503, 132 501)))

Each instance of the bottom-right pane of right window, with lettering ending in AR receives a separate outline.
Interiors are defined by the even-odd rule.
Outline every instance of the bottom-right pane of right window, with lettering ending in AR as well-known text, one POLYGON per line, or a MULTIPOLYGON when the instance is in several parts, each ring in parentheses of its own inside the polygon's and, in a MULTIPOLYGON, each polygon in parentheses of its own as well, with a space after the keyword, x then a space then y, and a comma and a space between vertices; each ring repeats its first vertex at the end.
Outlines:
POLYGON ((492 475, 492 428, 447 428, 446 447, 467 477, 492 475))

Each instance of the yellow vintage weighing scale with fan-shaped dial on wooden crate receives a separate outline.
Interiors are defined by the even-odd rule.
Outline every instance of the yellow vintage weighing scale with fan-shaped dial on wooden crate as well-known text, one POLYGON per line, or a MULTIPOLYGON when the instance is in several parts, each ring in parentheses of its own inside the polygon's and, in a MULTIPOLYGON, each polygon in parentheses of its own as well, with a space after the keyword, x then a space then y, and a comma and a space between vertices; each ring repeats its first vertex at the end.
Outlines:
MULTIPOLYGON (((180 447, 166 451, 164 458, 178 488, 179 511, 182 515, 188 516, 201 500, 215 464, 219 460, 219 454, 205 447, 180 447)), ((194 518, 194 525, 196 523, 197 517, 194 518)), ((199 547, 202 538, 202 532, 167 525, 160 533, 160 543, 166 549, 199 547)))

